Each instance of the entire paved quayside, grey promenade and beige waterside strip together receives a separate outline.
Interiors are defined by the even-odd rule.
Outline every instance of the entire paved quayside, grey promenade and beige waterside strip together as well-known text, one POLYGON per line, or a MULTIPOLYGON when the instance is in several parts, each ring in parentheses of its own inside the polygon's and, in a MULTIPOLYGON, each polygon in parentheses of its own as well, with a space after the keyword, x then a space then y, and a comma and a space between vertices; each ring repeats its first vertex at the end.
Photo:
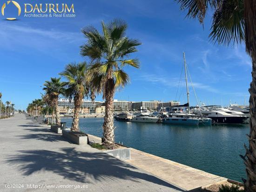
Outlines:
MULTIPOLYGON (((136 149, 122 161, 89 145, 71 144, 23 114, 1 119, 0 131, 0 191, 35 190, 30 184, 40 191, 84 185, 88 191, 195 191, 227 180, 136 149), (10 190, 10 184, 23 188, 10 190)), ((89 140, 100 138, 89 135, 89 140)))

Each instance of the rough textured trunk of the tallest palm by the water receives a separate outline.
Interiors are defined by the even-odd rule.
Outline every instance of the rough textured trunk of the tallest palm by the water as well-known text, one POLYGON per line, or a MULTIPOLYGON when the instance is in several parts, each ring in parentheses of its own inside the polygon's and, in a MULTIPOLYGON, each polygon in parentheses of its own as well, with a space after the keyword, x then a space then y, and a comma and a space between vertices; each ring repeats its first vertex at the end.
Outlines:
POLYGON ((108 149, 113 149, 114 141, 114 114, 113 114, 113 99, 115 94, 114 79, 108 79, 105 87, 106 108, 103 123, 103 137, 102 144, 108 149))

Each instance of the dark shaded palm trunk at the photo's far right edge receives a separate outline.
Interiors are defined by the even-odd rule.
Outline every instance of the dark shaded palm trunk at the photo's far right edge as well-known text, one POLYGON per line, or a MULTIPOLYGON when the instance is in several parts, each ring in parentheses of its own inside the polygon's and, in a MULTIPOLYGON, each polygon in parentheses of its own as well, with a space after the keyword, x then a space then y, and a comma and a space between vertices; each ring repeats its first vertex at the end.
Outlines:
POLYGON ((256 192, 256 54, 252 55, 252 82, 249 88, 250 99, 250 133, 249 148, 244 145, 246 154, 243 158, 246 166, 247 180, 245 182, 246 192, 256 192))

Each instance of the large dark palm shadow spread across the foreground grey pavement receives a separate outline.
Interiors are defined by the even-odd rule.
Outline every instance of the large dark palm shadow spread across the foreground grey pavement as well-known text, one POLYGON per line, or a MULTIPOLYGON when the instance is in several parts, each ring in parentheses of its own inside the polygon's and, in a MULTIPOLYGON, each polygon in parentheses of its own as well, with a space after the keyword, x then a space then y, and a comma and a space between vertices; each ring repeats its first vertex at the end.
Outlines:
POLYGON ((142 179, 178 189, 152 175, 138 172, 137 168, 106 153, 78 152, 71 147, 60 148, 60 152, 48 150, 19 151, 18 154, 9 156, 6 159, 6 163, 12 166, 19 164, 18 167, 23 175, 31 175, 39 171, 49 171, 59 174, 65 179, 87 183, 94 179, 109 182, 115 182, 116 179, 129 179, 141 182, 138 179, 142 179))

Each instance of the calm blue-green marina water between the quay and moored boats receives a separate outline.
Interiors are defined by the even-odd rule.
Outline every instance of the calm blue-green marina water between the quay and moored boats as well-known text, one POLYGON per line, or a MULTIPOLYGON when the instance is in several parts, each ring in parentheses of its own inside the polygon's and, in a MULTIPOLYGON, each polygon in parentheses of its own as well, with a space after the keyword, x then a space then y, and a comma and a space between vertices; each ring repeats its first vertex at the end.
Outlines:
MULTIPOLYGON (((71 126, 71 118, 63 118, 71 126)), ((102 118, 80 119, 83 132, 101 137, 102 118)), ((249 125, 175 126, 115 121, 115 141, 123 145, 201 169, 222 177, 241 181, 245 166, 245 134, 249 125)))

